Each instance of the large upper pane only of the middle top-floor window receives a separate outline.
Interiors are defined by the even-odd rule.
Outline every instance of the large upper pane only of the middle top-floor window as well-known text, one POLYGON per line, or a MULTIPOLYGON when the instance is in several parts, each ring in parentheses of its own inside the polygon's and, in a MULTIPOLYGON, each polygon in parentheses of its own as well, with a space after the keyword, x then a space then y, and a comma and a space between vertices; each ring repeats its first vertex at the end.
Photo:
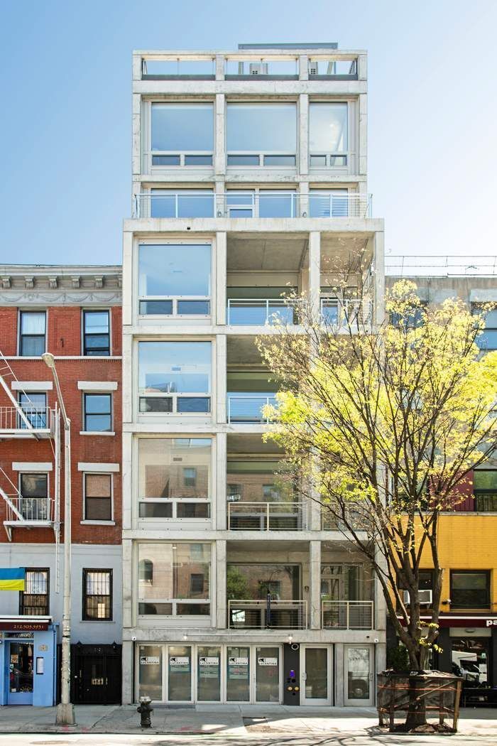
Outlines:
MULTIPOLYGON (((297 106, 293 103, 227 105, 227 149, 275 154, 297 151, 297 106)), ((229 163, 229 161, 228 161, 229 163)))

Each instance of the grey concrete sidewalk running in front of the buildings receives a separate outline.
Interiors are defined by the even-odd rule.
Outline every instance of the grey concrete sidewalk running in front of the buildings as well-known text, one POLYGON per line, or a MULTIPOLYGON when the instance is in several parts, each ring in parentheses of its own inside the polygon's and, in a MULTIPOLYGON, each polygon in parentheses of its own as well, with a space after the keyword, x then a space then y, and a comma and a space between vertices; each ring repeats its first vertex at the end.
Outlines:
MULTIPOLYGON (((79 705, 75 726, 55 725, 54 707, 0 707, 0 733, 114 733, 211 735, 229 739, 270 736, 374 736, 378 715, 372 707, 287 707, 261 705, 156 706, 152 727, 139 727, 136 706, 79 705)), ((497 743, 497 709, 462 709, 460 736, 484 736, 497 743)))

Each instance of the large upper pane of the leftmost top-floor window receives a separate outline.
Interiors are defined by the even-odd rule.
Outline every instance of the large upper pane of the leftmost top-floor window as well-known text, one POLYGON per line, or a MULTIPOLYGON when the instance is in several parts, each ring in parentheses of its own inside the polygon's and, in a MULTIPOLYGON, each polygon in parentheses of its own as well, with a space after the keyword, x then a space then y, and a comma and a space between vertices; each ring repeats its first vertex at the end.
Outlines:
POLYGON ((152 104, 152 150, 212 152, 213 104, 152 104))

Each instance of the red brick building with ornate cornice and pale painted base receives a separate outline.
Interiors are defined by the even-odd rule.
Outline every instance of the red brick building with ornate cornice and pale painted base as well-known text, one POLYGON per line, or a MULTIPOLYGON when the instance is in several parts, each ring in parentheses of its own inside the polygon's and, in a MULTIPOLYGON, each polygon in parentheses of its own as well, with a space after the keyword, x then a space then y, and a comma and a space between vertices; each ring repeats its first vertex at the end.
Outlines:
POLYGON ((72 700, 121 681, 121 267, 0 266, 0 704, 51 705, 63 613, 63 424, 71 420, 72 700))

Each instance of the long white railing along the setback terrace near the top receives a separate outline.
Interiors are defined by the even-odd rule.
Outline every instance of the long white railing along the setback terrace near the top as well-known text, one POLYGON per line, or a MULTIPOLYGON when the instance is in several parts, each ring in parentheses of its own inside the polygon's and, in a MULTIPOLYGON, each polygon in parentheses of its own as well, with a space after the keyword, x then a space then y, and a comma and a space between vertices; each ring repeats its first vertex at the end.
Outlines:
POLYGON ((133 218, 369 218, 371 195, 333 192, 154 192, 134 195, 133 218))

